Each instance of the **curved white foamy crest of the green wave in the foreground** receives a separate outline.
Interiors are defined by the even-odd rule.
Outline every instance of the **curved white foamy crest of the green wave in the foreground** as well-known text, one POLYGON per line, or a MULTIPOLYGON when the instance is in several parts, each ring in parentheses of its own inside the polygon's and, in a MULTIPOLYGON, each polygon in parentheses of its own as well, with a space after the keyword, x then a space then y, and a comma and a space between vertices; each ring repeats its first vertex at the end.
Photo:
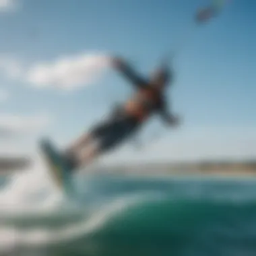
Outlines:
MULTIPOLYGON (((38 228, 34 230, 19 230, 17 228, 1 228, 0 226, 0 248, 7 251, 10 249, 10 245, 15 247, 44 247, 54 245, 57 243, 67 243, 67 241, 73 241, 77 236, 85 236, 96 232, 104 224, 123 212, 127 207, 139 203, 138 197, 131 197, 130 199, 119 198, 113 201, 110 205, 104 207, 102 210, 92 214, 79 223, 69 225, 59 230, 52 230, 46 228, 38 228), (11 234, 11 236, 9 235, 11 234), (5 237, 5 239, 2 239, 5 237), (10 239, 8 240, 7 237, 10 239)), ((70 215, 69 215, 70 217, 70 215)), ((53 216, 51 216, 53 218, 53 216)), ((77 216, 75 216, 77 218, 77 216)), ((63 220, 66 222, 66 220, 63 220)), ((45 224, 45 223, 44 223, 45 224)), ((13 247, 11 247, 13 249, 13 247)))

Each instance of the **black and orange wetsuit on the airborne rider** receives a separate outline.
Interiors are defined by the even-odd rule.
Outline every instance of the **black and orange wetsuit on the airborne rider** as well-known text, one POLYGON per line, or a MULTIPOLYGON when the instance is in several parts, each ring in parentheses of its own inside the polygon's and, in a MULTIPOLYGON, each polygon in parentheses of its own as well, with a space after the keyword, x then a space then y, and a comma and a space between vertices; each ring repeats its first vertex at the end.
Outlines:
POLYGON ((150 86, 150 82, 139 77, 129 65, 122 65, 119 71, 137 90, 133 96, 106 120, 92 128, 92 135, 100 139, 100 150, 115 148, 121 141, 133 135, 141 124, 158 112, 166 117, 166 106, 161 90, 150 86))

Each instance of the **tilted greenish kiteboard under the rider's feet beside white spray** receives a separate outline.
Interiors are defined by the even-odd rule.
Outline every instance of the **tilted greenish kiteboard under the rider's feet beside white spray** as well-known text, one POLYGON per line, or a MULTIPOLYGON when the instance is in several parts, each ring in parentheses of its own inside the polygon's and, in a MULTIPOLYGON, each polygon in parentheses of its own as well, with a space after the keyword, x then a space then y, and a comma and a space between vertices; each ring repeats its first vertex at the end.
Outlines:
POLYGON ((61 153, 56 150, 51 141, 45 139, 40 141, 40 149, 49 167, 55 186, 69 197, 73 195, 72 172, 65 164, 65 159, 61 156, 61 153))

